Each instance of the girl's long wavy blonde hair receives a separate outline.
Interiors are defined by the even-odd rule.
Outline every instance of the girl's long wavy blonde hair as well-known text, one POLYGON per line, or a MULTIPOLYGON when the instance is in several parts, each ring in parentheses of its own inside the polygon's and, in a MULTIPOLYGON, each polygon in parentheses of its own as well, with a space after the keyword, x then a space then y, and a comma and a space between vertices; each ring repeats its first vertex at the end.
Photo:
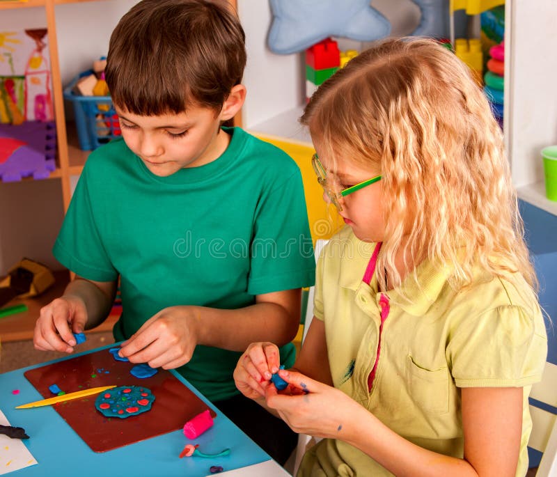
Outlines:
POLYGON ((422 38, 377 43, 317 89, 300 121, 331 162, 381 171, 387 238, 377 267, 394 286, 405 244, 412 258, 453 267, 455 289, 471 283, 476 265, 492 277, 519 272, 537 289, 501 128, 446 47, 422 38))

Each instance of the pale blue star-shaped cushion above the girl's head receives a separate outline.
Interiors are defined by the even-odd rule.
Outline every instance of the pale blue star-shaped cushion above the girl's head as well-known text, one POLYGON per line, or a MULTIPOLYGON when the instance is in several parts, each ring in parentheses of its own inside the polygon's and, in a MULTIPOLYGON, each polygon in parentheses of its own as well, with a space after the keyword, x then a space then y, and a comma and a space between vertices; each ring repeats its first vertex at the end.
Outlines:
POLYGON ((270 0, 273 22, 267 42, 272 52, 304 51, 329 36, 373 41, 391 33, 391 23, 370 0, 270 0))

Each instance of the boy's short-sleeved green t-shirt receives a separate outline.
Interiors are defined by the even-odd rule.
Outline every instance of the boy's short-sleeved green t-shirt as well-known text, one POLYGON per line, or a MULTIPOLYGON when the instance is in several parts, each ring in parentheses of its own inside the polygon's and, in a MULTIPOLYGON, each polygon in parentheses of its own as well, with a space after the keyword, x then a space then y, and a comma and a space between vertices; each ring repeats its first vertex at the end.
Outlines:
MULTIPOLYGON (((150 173, 120 139, 88 158, 54 255, 86 279, 120 275, 116 341, 168 306, 242 308, 256 295, 313 285, 297 165, 244 130, 226 131, 221 157, 168 177, 150 173)), ((210 400, 230 398, 240 355, 199 345, 178 371, 210 400)), ((292 344, 281 348, 286 366, 294 357, 292 344)))

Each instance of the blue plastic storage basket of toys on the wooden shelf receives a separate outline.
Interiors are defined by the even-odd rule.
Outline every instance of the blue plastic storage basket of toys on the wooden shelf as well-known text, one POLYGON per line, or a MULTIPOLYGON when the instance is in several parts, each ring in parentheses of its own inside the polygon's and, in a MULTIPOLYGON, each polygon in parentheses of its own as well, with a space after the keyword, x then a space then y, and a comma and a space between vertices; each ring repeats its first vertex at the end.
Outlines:
POLYGON ((92 74, 93 70, 81 73, 64 90, 64 98, 74 105, 77 138, 82 150, 96 149, 121 134, 110 96, 81 96, 72 91, 79 78, 92 74))

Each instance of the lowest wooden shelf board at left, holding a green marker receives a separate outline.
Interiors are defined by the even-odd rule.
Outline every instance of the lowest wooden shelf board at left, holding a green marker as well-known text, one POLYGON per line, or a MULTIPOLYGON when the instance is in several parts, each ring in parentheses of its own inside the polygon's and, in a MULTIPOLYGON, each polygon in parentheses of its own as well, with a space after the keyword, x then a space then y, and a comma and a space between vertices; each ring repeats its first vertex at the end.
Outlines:
MULTIPOLYGON (((65 286, 70 281, 68 270, 54 272, 56 283, 47 291, 33 298, 14 298, 5 306, 14 306, 17 304, 26 304, 28 311, 15 313, 15 315, 0 318, 0 341, 6 343, 8 341, 23 341, 33 339, 33 330, 35 322, 40 314, 40 308, 52 302, 53 299, 63 294, 65 286)), ((87 331, 87 333, 95 333, 97 331, 111 331, 114 323, 118 320, 116 316, 109 316, 100 326, 87 331)))

